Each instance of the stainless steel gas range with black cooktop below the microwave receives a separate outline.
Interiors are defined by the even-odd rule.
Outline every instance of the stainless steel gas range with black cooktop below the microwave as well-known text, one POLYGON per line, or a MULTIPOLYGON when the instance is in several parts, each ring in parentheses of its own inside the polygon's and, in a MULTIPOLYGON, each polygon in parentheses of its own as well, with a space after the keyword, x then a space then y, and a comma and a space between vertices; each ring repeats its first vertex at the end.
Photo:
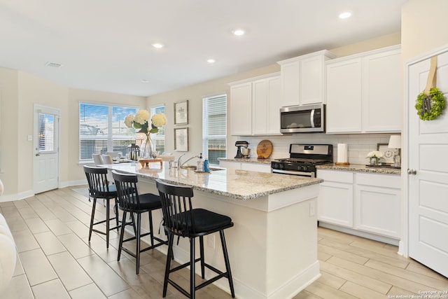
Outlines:
POLYGON ((333 162, 332 144, 290 144, 289 158, 271 162, 273 173, 316 176, 316 165, 333 162))

